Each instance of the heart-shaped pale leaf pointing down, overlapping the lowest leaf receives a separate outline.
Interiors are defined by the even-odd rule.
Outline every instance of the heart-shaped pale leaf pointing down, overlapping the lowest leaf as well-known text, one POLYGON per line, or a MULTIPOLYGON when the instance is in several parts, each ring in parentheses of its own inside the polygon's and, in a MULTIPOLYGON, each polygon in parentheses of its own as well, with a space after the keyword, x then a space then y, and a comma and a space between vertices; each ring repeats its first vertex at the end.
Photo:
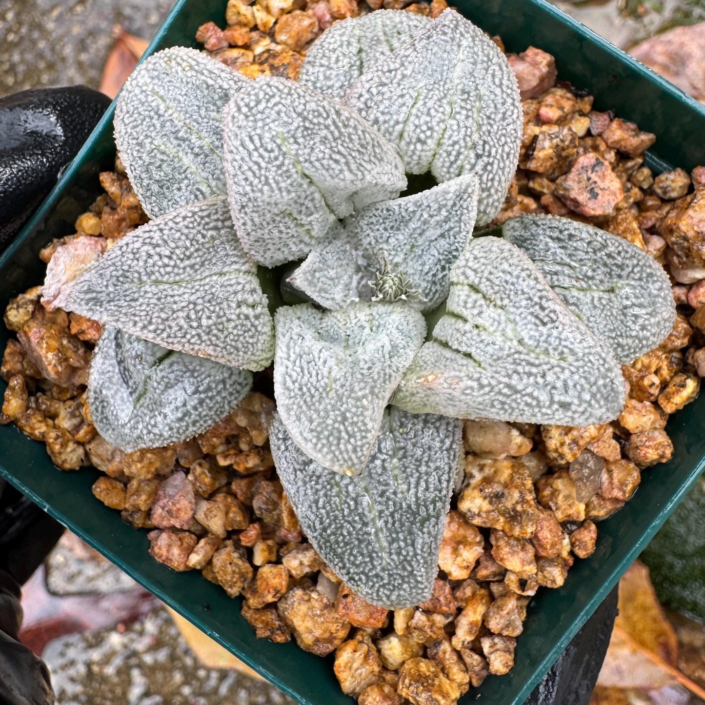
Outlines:
POLYGON ((295 443, 324 467, 364 468, 382 412, 421 347, 426 324, 403 304, 276 312, 274 396, 295 443))

